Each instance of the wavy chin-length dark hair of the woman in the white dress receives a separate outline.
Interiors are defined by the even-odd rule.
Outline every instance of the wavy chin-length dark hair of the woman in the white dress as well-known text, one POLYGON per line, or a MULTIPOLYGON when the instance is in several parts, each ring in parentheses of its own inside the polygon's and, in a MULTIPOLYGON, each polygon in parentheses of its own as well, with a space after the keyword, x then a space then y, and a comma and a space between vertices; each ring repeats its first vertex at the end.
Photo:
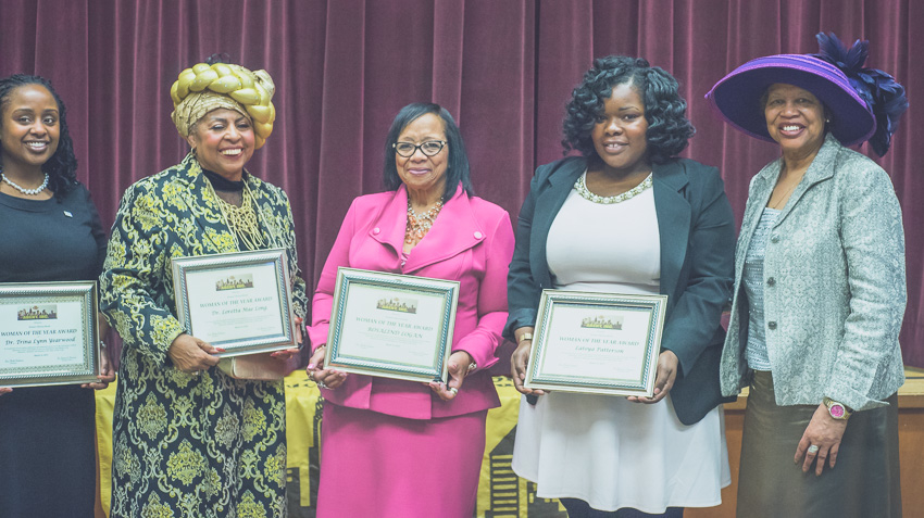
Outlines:
POLYGON ((645 103, 648 159, 652 163, 663 164, 687 147, 696 130, 685 115, 687 102, 680 97, 677 80, 642 58, 608 55, 594 60, 594 66, 571 92, 563 123, 564 153, 573 149, 586 157, 597 154, 590 132, 600 122, 603 103, 619 85, 632 85, 645 103))

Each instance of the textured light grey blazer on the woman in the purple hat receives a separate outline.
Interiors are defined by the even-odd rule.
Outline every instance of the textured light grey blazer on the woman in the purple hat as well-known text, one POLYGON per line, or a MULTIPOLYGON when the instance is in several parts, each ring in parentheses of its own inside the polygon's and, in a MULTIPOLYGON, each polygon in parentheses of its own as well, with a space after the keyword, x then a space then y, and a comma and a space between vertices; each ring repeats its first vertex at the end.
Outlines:
MULTIPOLYGON (((745 346, 745 254, 779 176, 782 160, 751 180, 735 257, 732 318, 722 353, 722 393, 750 378, 745 346)), ((884 406, 904 382, 898 333, 904 316, 901 207, 885 170, 828 134, 766 243, 766 349, 778 405, 824 396, 863 410, 884 406)))

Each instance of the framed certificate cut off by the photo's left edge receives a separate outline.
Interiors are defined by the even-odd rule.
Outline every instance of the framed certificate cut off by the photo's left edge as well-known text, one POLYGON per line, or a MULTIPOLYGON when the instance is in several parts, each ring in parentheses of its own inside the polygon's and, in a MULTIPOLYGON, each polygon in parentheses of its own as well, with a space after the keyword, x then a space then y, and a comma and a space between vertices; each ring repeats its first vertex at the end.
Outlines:
POLYGON ((97 283, 0 285, 0 387, 99 381, 97 283))

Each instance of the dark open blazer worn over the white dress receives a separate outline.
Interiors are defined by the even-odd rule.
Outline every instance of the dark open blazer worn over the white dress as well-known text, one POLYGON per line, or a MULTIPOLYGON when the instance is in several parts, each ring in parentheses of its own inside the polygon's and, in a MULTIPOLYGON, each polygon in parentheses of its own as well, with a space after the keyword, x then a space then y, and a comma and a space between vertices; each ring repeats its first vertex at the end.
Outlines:
MULTIPOLYGON (((508 278, 510 315, 504 336, 535 326, 539 296, 552 288, 546 241, 583 157, 539 166, 520 211, 516 249, 508 278)), ((662 349, 679 359, 671 399, 680 422, 692 425, 722 397, 719 359, 725 331, 720 318, 732 292, 735 220, 719 169, 687 159, 654 165, 652 188, 661 241, 661 293, 667 295, 662 349)))

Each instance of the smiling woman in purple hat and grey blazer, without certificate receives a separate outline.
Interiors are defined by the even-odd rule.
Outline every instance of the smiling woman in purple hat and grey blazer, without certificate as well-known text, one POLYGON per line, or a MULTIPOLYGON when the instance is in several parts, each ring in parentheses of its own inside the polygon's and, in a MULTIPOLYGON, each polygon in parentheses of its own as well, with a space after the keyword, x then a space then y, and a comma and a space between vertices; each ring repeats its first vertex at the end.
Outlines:
POLYGON ((779 144, 751 180, 738 238, 724 395, 750 386, 738 516, 901 516, 898 334, 904 236, 879 155, 904 90, 820 34, 820 54, 750 61, 707 98, 779 144), (795 464, 794 464, 795 460, 795 464))

